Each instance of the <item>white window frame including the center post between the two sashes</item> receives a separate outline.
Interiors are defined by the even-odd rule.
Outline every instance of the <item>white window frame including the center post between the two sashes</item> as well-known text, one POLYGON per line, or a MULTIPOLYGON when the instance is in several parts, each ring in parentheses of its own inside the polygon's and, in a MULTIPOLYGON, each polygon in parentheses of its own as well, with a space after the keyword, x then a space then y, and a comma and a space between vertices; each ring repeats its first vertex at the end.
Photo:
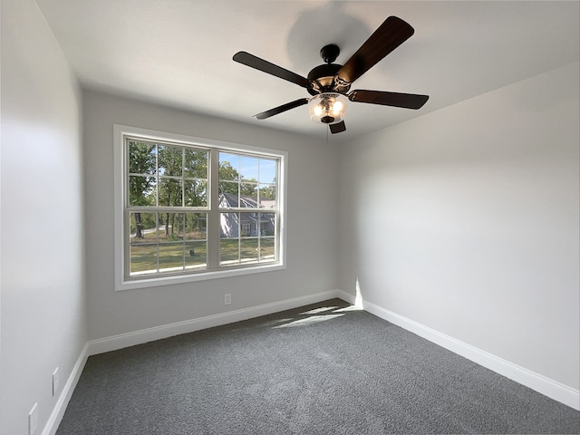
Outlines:
MULTIPOLYGON (((115 290, 130 290, 161 285, 184 284, 208 279, 225 278, 237 275, 252 275, 258 273, 272 272, 286 268, 286 231, 285 231, 285 209, 286 209, 286 174, 287 174, 287 152, 282 150, 272 150, 251 145, 226 142, 222 140, 209 140, 165 131, 152 131, 138 127, 131 127, 121 124, 113 124, 113 147, 114 147, 114 258, 115 258, 115 290), (153 140, 160 142, 173 142, 183 145, 192 145, 201 149, 209 150, 209 155, 214 156, 219 151, 231 151, 234 153, 255 154, 256 157, 275 158, 279 160, 277 184, 277 208, 278 208, 278 260, 272 263, 251 264, 244 266, 219 266, 218 256, 208 255, 208 269, 198 272, 189 272, 179 275, 143 275, 143 277, 125 276, 129 262, 127 261, 129 237, 125 228, 125 214, 128 213, 125 204, 128 196, 128 183, 126 174, 126 164, 128 155, 125 151, 125 138, 135 138, 141 140, 153 140)), ((218 159, 209 159, 208 168, 208 251, 209 244, 212 250, 218 249, 220 243, 219 225, 210 225, 212 217, 218 216, 219 223, 220 209, 218 207, 218 195, 211 194, 212 189, 218 189, 218 159)), ((178 210, 176 210, 178 211, 178 210)), ((267 210, 265 210, 267 211, 267 210)), ((203 212, 202 210, 191 212, 203 212)))

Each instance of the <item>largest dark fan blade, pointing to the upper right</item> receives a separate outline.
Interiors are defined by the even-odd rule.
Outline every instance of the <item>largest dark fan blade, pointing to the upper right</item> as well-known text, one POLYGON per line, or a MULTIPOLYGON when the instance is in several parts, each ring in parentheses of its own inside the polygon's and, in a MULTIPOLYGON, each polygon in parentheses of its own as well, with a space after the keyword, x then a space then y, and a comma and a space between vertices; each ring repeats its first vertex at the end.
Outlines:
POLYGON ((397 16, 390 16, 344 63, 336 76, 343 82, 354 82, 381 61, 384 56, 407 41, 414 32, 415 30, 410 24, 397 16))

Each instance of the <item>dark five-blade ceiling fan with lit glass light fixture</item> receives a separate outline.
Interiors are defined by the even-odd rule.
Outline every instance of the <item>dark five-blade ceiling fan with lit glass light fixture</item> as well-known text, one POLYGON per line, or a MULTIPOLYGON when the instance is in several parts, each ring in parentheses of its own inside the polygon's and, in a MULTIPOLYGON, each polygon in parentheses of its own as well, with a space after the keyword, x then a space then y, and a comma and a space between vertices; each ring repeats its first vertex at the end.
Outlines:
POLYGON ((320 51, 324 64, 314 67, 308 73, 307 78, 247 52, 234 54, 234 61, 293 82, 305 88, 312 95, 310 98, 287 102, 269 111, 254 115, 258 120, 266 120, 266 118, 284 111, 308 104, 311 118, 314 121, 328 124, 332 133, 340 133, 346 131, 344 110, 349 101, 420 109, 429 100, 428 95, 413 93, 365 90, 349 92, 351 84, 356 79, 409 39, 414 32, 410 24, 399 17, 390 16, 343 65, 333 63, 340 53, 338 45, 333 43, 324 45, 320 51))

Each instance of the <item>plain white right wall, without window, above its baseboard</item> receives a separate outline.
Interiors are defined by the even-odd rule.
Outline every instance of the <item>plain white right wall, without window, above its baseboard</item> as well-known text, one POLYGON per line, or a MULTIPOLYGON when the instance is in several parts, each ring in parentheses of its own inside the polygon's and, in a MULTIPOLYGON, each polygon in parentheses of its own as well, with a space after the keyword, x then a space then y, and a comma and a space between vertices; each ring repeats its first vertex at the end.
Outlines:
POLYGON ((345 144, 339 286, 576 390, 578 63, 345 144))

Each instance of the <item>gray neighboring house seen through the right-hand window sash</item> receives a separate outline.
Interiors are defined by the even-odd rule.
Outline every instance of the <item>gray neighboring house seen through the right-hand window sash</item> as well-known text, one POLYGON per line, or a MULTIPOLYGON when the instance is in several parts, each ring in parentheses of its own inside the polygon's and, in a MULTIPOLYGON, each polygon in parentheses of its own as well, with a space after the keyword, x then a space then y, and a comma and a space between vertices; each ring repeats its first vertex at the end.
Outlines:
POLYGON ((274 199, 262 200, 258 207, 257 198, 232 193, 224 193, 219 196, 219 208, 254 208, 247 212, 221 213, 219 218, 220 237, 257 237, 274 236, 275 213, 257 212, 256 208, 274 208, 274 199), (241 233, 240 233, 241 231, 241 233))

